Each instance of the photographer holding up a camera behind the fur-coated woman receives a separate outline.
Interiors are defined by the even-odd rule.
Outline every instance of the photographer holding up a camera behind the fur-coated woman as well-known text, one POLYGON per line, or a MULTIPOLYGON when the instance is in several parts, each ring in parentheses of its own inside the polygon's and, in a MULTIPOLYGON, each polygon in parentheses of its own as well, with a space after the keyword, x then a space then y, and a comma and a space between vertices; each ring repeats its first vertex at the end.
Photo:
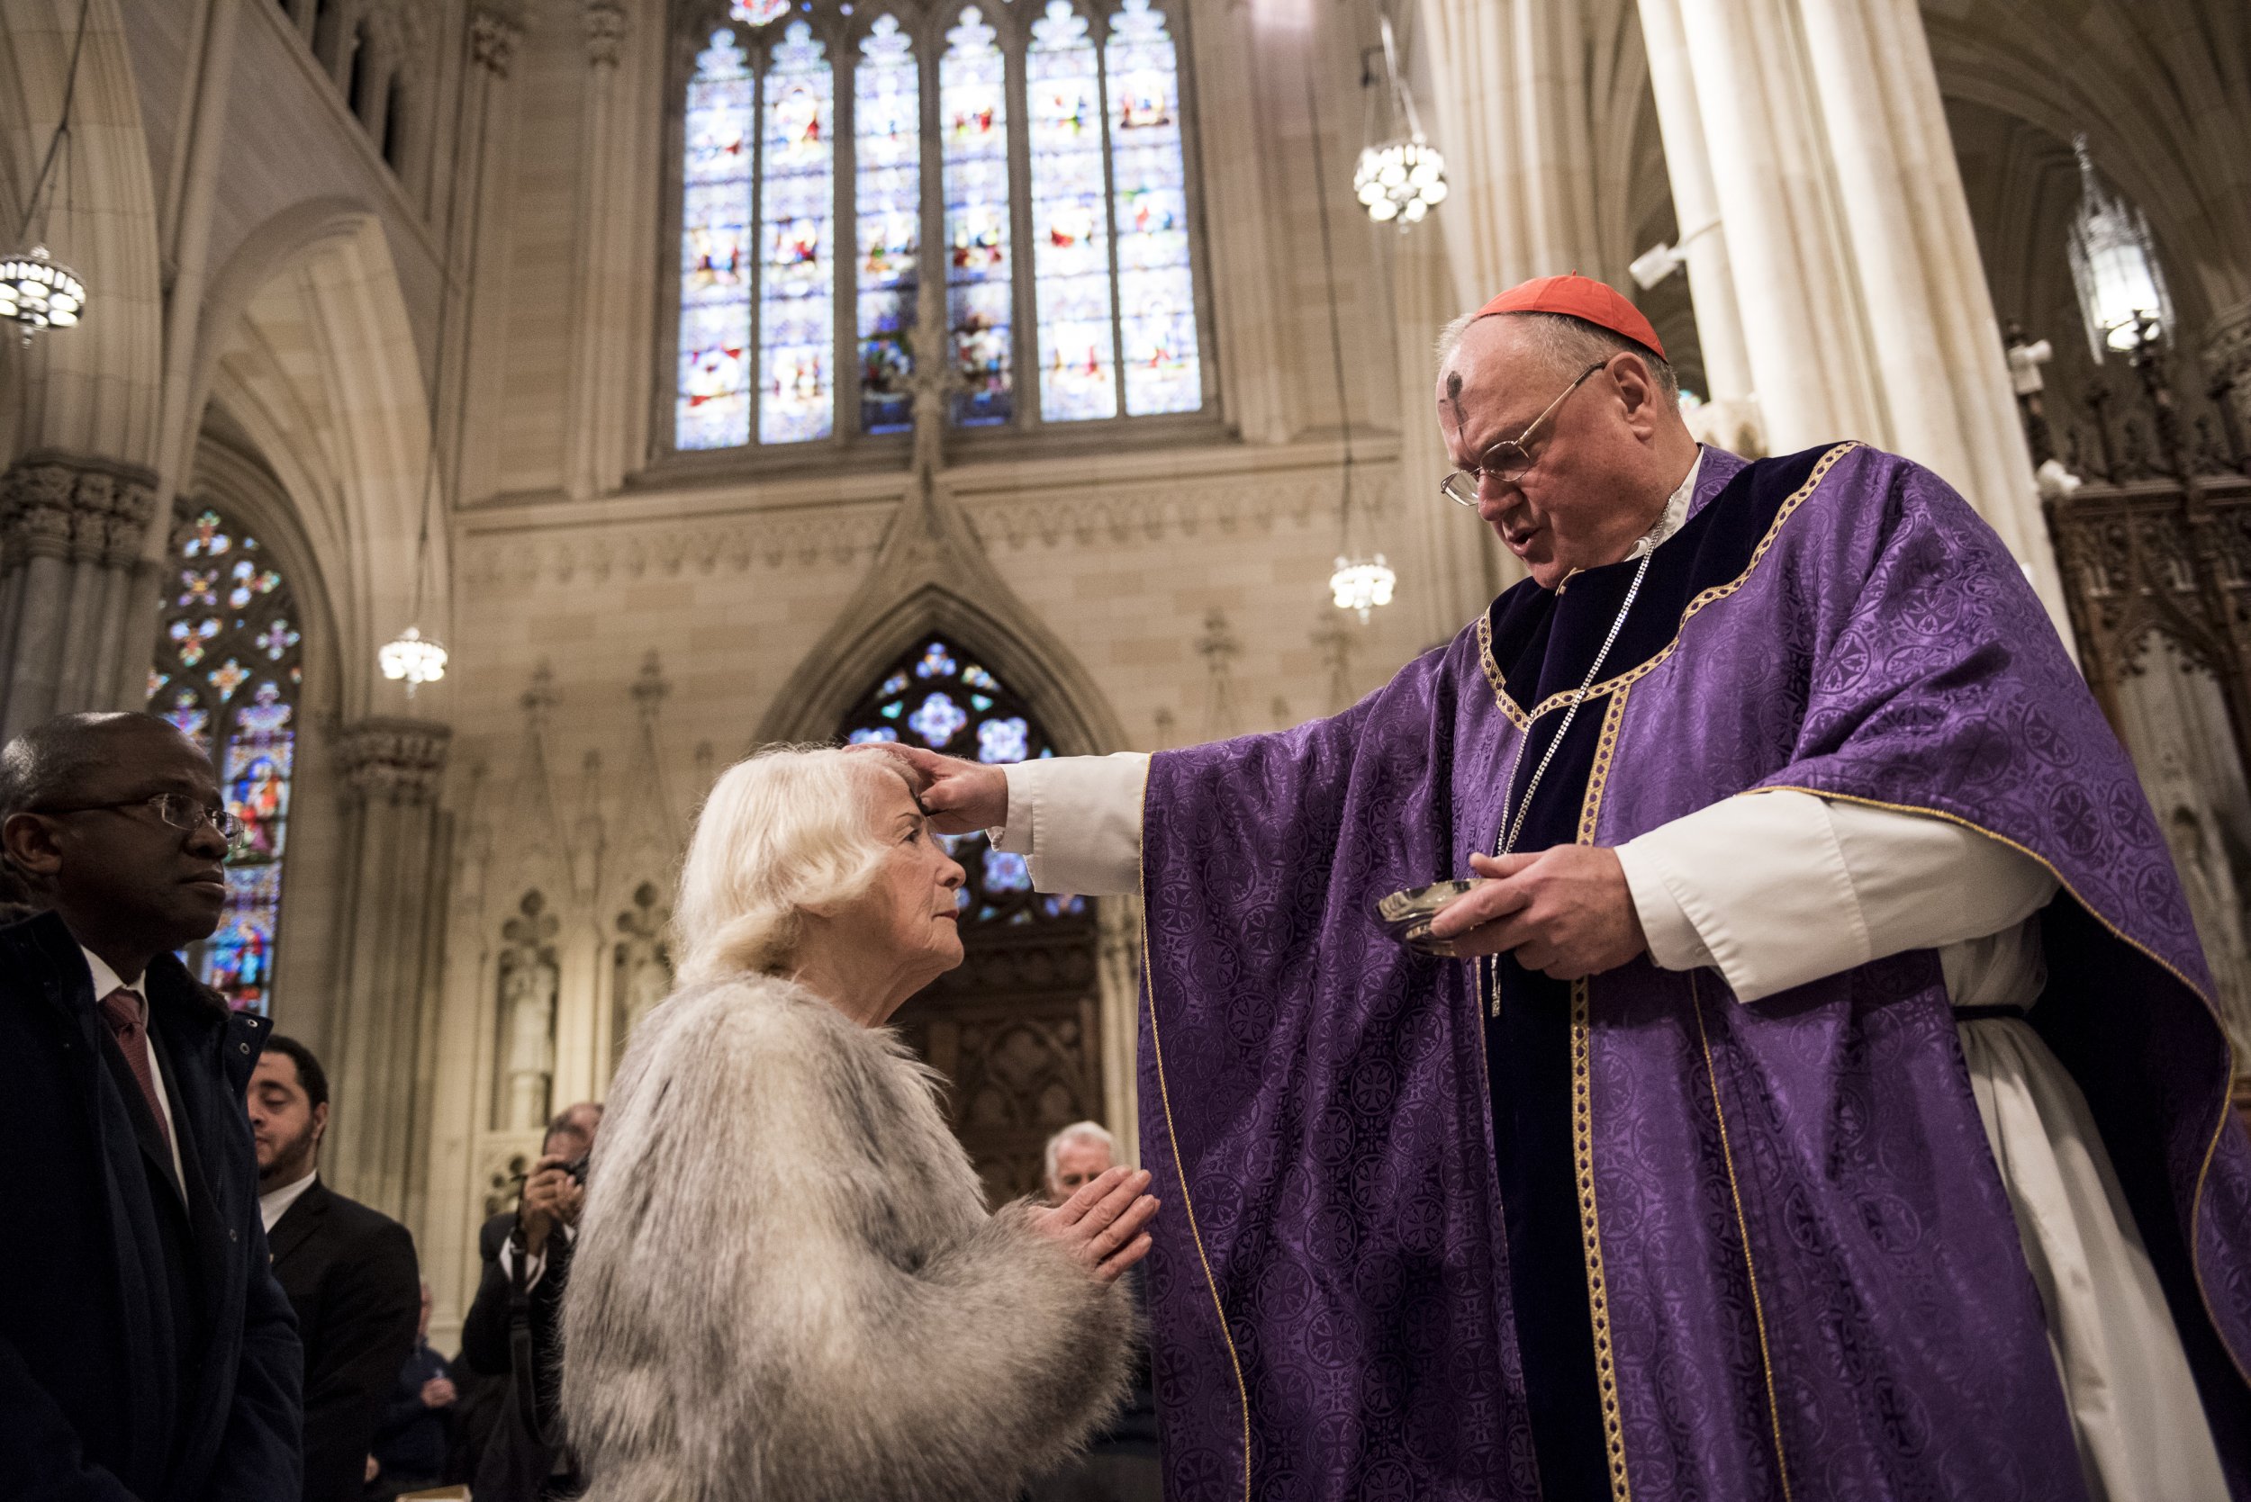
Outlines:
POLYGON ((509 1378, 500 1421, 477 1462, 477 1502, 540 1502, 579 1491, 570 1448, 556 1432, 558 1315, 599 1126, 597 1102, 556 1115, 515 1210, 495 1214, 477 1237, 484 1279, 461 1320, 461 1356, 475 1372, 509 1378))

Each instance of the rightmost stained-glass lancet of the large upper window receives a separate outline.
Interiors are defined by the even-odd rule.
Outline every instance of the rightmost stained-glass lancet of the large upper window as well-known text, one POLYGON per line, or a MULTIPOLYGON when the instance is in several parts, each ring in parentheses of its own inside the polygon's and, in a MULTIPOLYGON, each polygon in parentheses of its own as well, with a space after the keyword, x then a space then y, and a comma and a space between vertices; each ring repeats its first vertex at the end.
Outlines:
POLYGON ((1189 270, 1180 65, 1164 13, 1148 0, 1123 0, 1110 16, 1103 67, 1110 76, 1126 411, 1198 411, 1204 371, 1189 270))

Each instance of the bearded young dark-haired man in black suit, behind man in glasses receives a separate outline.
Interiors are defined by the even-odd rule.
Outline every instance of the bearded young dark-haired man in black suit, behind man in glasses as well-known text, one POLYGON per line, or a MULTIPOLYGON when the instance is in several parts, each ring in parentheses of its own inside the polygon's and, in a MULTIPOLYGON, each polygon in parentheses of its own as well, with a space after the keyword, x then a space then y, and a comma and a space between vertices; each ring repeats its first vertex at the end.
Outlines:
POLYGON ((304 1340, 304 1502, 358 1502, 383 1403, 414 1349, 414 1237, 320 1183, 329 1075, 313 1050, 266 1039, 248 1102, 259 1214, 304 1340))

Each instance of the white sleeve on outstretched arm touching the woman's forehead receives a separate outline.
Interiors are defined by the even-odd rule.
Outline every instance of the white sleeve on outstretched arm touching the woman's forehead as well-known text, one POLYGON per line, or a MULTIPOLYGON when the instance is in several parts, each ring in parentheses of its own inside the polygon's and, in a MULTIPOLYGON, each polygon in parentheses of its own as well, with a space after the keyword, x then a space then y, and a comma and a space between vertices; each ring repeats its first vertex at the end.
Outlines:
POLYGON ((1008 823, 993 845, 1026 857, 1038 890, 1085 897, 1141 890, 1146 751, 1053 755, 1002 773, 1008 823))

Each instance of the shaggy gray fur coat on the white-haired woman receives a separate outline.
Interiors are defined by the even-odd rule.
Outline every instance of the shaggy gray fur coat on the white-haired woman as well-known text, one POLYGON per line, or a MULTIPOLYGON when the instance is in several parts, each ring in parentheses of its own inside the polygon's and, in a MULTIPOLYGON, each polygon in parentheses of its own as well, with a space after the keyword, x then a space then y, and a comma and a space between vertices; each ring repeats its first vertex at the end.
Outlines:
POLYGON ((934 1086, 770 976, 642 1021, 563 1295, 588 1502, 1006 1500, 1116 1408, 1123 1288, 986 1214, 934 1086))

